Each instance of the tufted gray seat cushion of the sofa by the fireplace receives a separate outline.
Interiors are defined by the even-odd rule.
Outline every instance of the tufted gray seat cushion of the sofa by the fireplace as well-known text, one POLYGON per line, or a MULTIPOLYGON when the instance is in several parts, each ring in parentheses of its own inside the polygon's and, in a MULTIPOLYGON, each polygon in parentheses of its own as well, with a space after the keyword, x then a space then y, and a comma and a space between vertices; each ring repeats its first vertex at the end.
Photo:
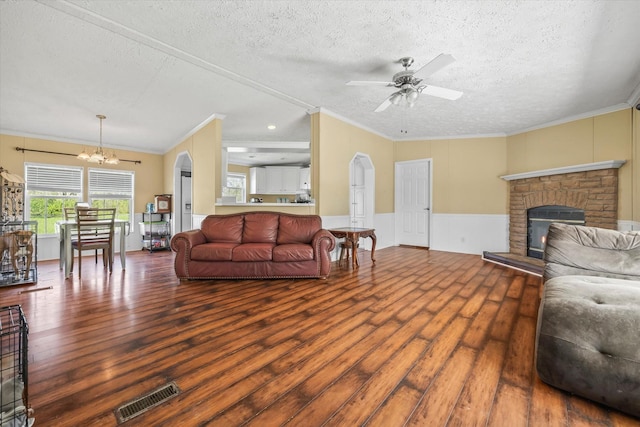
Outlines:
POLYGON ((562 276, 545 282, 536 370, 555 387, 640 416, 640 281, 562 276))

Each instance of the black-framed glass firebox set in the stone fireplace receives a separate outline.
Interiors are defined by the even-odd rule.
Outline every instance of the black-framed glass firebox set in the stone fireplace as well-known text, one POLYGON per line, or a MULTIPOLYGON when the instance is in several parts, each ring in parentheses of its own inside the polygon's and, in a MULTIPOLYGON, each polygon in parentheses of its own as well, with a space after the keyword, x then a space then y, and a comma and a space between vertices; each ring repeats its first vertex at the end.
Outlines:
POLYGON ((584 209, 551 205, 527 210, 527 256, 542 259, 549 225, 554 222, 584 225, 584 209))

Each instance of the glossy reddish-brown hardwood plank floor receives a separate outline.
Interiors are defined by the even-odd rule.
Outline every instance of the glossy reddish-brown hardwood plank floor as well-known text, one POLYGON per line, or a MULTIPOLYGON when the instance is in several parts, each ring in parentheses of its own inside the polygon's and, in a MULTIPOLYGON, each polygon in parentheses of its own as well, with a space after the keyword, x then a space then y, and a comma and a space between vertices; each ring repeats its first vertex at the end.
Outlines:
MULTIPOLYGON (((640 426, 542 383, 540 279, 480 256, 393 247, 328 280, 179 282, 170 252, 127 270, 0 288, 29 322, 36 426, 640 426), (47 289, 51 287, 51 289, 47 289), (35 289, 41 290, 35 290, 35 289)), ((77 268, 77 267, 76 267, 77 268)))

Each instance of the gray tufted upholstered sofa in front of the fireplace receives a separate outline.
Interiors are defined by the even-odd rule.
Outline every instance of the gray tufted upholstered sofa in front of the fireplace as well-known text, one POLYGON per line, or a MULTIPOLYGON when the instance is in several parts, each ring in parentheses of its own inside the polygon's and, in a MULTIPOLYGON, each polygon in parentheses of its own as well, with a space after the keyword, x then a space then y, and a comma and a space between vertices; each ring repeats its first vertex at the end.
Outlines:
POLYGON ((640 417, 640 232, 554 223, 544 258, 538 375, 640 417))

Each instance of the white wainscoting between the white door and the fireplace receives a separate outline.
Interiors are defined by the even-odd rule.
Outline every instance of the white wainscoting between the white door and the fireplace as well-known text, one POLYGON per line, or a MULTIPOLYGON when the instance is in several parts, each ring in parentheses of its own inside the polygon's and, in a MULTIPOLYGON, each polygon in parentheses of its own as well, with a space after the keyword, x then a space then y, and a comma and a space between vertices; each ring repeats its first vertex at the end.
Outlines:
POLYGON ((509 215, 434 213, 431 249, 466 254, 509 252, 509 215))

